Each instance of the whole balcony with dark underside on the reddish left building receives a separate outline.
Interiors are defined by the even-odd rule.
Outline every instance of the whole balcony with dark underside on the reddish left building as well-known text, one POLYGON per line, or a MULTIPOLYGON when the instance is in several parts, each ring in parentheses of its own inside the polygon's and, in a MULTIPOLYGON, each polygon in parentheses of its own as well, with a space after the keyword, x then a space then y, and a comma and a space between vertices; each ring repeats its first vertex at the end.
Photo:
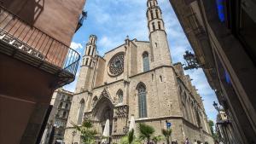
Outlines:
POLYGON ((53 87, 73 82, 80 55, 0 6, 0 53, 55 75, 53 87))

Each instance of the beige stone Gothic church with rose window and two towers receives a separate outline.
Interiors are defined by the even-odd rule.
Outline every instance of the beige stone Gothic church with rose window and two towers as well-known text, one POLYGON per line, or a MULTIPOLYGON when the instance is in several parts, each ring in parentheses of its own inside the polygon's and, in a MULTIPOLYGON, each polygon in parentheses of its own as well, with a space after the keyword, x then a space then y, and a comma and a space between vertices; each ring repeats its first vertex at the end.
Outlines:
POLYGON ((81 124, 84 118, 93 121, 99 135, 109 119, 111 140, 118 143, 131 116, 136 124, 154 126, 155 135, 166 129, 166 122, 172 123, 172 141, 178 143, 186 138, 213 143, 201 96, 181 63, 172 64, 160 7, 156 0, 148 0, 147 5, 149 42, 127 37, 102 57, 96 55, 96 36, 90 36, 65 143, 80 143, 72 123, 81 124))

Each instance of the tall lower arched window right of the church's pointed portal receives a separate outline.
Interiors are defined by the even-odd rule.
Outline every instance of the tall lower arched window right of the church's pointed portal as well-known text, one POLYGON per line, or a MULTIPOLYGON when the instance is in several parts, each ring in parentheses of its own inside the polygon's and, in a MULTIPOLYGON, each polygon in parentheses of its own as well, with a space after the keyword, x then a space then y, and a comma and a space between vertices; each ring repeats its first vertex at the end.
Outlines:
POLYGON ((138 108, 139 118, 147 118, 147 101, 146 101, 146 87, 144 84, 138 84, 138 108))

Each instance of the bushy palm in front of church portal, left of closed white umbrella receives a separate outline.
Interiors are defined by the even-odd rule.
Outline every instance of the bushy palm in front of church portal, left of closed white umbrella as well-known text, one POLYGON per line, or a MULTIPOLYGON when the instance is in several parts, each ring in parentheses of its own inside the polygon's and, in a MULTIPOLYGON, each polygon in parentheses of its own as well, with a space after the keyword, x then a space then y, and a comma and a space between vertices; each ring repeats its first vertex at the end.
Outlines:
POLYGON ((76 130, 81 133, 81 139, 83 144, 95 144, 96 143, 96 130, 93 129, 93 124, 90 120, 84 120, 81 126, 73 124, 76 130))

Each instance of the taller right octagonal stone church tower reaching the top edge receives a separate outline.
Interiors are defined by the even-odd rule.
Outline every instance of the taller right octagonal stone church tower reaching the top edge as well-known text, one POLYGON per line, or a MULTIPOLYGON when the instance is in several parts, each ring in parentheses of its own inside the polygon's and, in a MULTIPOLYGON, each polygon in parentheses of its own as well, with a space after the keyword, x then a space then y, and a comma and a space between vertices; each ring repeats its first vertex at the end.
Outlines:
POLYGON ((154 67, 170 66, 172 64, 170 49, 166 37, 164 21, 157 0, 148 0, 147 3, 148 31, 151 46, 151 61, 154 67))

